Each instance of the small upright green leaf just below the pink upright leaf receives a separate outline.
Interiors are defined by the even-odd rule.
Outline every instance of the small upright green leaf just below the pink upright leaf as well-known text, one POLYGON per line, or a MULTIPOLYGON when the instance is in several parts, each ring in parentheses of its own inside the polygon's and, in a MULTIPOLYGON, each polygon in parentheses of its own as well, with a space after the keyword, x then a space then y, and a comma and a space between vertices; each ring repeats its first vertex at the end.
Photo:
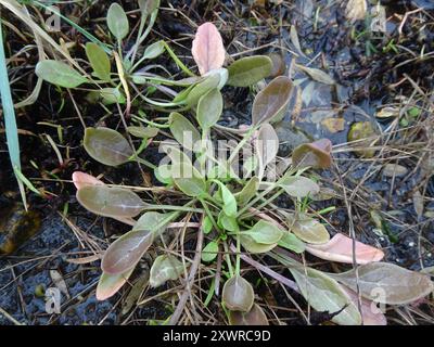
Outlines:
POLYGON ((216 125, 220 118, 222 108, 224 99, 217 88, 209 90, 199 100, 196 116, 203 131, 207 131, 216 125))

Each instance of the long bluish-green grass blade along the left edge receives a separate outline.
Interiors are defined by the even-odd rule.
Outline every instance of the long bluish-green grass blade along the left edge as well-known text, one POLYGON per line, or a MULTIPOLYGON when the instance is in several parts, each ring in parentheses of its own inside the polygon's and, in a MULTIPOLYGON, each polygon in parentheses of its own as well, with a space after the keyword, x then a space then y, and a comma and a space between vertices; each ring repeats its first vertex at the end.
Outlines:
MULTIPOLYGON (((1 23, 0 23, 0 97, 4 116, 9 157, 11 158, 14 172, 16 171, 16 169, 21 171, 18 129, 16 127, 15 110, 13 106, 11 88, 9 85, 7 59, 4 55, 4 48, 3 48, 3 31, 1 23)), ((16 175, 15 177, 18 182, 23 204, 26 207, 27 204, 26 204, 26 193, 24 191, 24 184, 16 175)))

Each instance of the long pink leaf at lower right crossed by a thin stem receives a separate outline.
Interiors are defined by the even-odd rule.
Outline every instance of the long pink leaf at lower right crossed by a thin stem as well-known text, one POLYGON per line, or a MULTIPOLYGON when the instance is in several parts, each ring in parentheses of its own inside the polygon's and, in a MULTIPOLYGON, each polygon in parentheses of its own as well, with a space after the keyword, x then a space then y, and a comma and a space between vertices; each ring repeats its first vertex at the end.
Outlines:
MULTIPOLYGON (((353 264, 353 240, 344 234, 335 234, 322 245, 308 245, 306 250, 321 259, 353 264)), ((383 257, 383 250, 356 241, 357 264, 380 261, 383 257)))

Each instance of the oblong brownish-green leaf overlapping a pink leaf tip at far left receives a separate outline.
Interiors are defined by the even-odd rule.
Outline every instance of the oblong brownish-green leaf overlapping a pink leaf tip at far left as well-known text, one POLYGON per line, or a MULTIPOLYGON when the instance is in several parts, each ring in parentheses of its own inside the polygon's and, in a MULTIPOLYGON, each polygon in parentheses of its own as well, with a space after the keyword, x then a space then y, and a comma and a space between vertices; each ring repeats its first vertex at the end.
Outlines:
POLYGON ((77 191, 77 200, 86 209, 105 217, 136 217, 145 207, 135 192, 106 185, 82 187, 77 191))

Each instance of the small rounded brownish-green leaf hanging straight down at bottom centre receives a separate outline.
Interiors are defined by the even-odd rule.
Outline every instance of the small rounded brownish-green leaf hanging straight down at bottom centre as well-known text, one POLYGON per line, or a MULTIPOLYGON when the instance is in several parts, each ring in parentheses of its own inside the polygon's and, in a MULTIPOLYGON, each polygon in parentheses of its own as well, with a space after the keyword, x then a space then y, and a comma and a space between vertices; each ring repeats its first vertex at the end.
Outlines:
POLYGON ((248 312, 252 309, 254 298, 255 294, 252 284, 241 275, 235 274, 226 281, 221 299, 227 309, 248 312))

